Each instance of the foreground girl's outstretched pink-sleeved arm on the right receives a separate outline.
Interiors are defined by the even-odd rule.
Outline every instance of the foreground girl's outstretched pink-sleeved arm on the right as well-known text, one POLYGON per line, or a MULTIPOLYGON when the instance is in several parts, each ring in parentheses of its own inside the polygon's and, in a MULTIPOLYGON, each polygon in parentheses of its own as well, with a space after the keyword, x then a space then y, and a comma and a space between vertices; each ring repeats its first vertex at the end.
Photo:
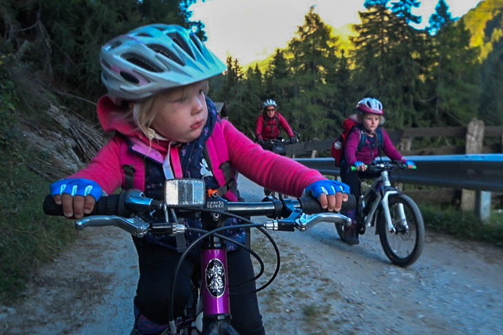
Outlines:
POLYGON ((232 166, 257 184, 300 197, 309 184, 326 179, 318 171, 290 158, 263 150, 230 122, 222 120, 220 125, 232 166))

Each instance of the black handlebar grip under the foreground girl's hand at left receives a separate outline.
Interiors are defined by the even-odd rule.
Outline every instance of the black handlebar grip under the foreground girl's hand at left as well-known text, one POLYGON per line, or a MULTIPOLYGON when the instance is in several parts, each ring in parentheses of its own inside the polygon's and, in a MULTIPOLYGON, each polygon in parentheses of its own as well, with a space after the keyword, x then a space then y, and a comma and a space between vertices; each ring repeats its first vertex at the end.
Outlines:
MULTIPOLYGON (((90 216, 90 215, 127 216, 127 213, 123 212, 125 208, 123 208, 123 206, 119 206, 121 204, 121 200, 123 201, 123 199, 121 199, 121 197, 123 197, 123 194, 124 193, 112 194, 106 197, 100 197, 98 202, 94 205, 94 208, 92 208, 92 212, 89 214, 85 214, 84 216, 90 216)), ((56 204, 51 195, 47 195, 43 199, 43 213, 45 215, 65 216, 63 214, 63 206, 56 204)))

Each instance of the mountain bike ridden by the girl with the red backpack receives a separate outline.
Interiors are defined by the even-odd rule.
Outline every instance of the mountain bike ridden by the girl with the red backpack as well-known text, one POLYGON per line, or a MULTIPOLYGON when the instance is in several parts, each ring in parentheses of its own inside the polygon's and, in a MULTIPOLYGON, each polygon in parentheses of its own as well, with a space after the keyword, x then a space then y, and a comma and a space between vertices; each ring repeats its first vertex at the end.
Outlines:
MULTIPOLYGON (((355 169, 351 166, 351 169, 355 169)), ((382 249, 391 263, 406 267, 420 257, 424 248, 424 222, 413 199, 391 186, 389 172, 407 169, 402 162, 378 162, 367 166, 361 178, 376 178, 360 194, 356 206, 358 233, 376 226, 382 249)), ((345 225, 336 223, 340 239, 345 239, 345 225)))

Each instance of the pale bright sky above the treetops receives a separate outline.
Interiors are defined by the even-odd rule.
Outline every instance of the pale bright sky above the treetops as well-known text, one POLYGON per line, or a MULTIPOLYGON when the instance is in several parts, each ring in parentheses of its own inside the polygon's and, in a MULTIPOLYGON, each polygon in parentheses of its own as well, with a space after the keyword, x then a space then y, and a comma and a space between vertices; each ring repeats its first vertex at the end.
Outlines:
MULTIPOLYGON (((461 17, 481 0, 446 0, 452 17, 461 17)), ((315 6, 325 23, 338 28, 360 23, 358 11, 365 11, 365 0, 199 0, 192 5, 192 21, 203 21, 206 45, 221 61, 237 58, 240 65, 260 61, 286 47, 304 16, 315 6)), ((422 16, 416 28, 429 25, 438 0, 421 0, 413 14, 422 16)))

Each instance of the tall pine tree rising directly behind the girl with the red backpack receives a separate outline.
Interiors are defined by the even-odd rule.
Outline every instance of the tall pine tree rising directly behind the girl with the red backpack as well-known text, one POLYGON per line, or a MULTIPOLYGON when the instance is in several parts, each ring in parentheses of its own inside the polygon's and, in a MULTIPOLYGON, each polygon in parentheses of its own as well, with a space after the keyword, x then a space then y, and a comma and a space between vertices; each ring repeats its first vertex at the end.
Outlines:
POLYGON ((359 13, 362 23, 355 25, 359 35, 351 39, 360 98, 379 98, 391 128, 410 127, 418 119, 422 37, 407 22, 411 19, 406 12, 410 4, 394 3, 397 13, 381 4, 369 6, 367 12, 359 13))

